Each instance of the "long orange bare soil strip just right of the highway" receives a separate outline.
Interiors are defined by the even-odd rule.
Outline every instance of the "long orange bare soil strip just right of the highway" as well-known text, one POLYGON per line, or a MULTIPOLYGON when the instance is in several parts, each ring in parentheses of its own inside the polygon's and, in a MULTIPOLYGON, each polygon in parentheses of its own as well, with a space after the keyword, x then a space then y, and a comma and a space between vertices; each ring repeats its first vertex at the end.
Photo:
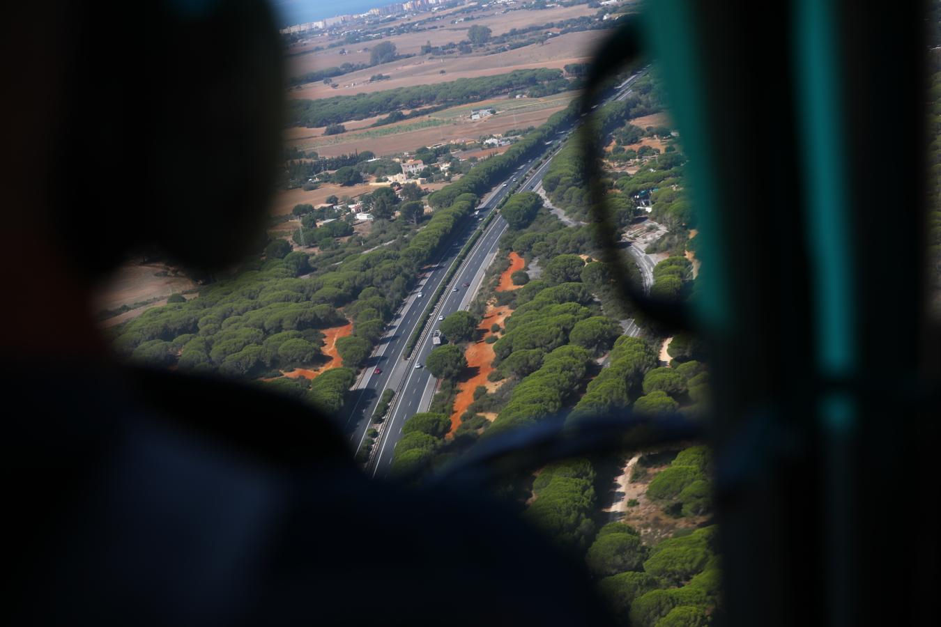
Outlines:
MULTIPOLYGON (((510 267, 504 270, 500 275, 500 287, 497 288, 497 291, 517 290, 522 287, 513 285, 510 275, 518 270, 522 270, 525 264, 526 261, 519 257, 516 252, 511 252, 510 267)), ((494 323, 502 327, 503 321, 512 313, 513 310, 508 306, 495 306, 493 301, 487 303, 484 320, 477 325, 478 338, 470 344, 467 351, 464 352, 464 357, 468 360, 468 367, 465 368, 464 375, 458 381, 460 390, 458 390, 457 396, 455 397, 455 411, 451 415, 451 431, 448 431, 449 437, 450 434, 453 434, 460 426, 461 416, 464 415, 464 412, 470 407, 470 403, 473 402, 473 391, 477 389, 478 385, 486 386, 487 390, 490 392, 500 387, 501 382, 488 381, 486 378, 487 375, 493 372, 493 358, 496 356, 496 354, 493 353, 493 344, 487 344, 486 338, 495 335, 490 331, 490 327, 494 323)), ((490 413, 484 415, 490 422, 493 422, 497 417, 496 414, 490 413)))

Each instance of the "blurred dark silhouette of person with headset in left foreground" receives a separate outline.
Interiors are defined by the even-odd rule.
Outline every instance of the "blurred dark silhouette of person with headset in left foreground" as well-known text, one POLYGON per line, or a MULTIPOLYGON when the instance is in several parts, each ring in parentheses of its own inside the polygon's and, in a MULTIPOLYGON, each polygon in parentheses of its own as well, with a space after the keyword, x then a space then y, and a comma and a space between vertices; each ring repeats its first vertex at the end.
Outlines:
POLYGON ((603 624, 582 568, 483 495, 372 484, 307 406, 109 358, 89 297, 121 259, 211 272, 263 232, 263 3, 7 18, 6 622, 603 624))

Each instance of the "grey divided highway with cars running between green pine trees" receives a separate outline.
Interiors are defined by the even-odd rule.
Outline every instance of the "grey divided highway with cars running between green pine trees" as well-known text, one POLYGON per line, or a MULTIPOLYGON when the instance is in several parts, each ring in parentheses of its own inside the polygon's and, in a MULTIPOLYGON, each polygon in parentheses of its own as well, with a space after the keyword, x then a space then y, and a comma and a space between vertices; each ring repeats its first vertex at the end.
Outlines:
MULTIPOLYGON (((643 71, 634 74, 627 81, 617 86, 611 99, 624 100, 630 94, 630 85, 642 73, 643 71)), ((552 154, 562 147, 577 123, 576 120, 571 127, 558 133, 560 141, 550 148, 552 154)), ((518 180, 523 177, 528 176, 529 178, 519 187, 518 191, 533 191, 542 181, 550 165, 551 159, 547 159, 544 164, 539 165, 533 171, 534 165, 538 163, 542 156, 538 155, 519 166, 516 173, 511 174, 489 196, 486 196, 480 208, 481 219, 493 211, 493 208, 500 203, 503 196, 506 196, 508 190, 512 189, 518 180)), ((471 218, 471 221, 473 220, 474 218, 471 218)), ((471 222, 470 227, 467 227, 455 239, 454 243, 448 246, 431 273, 423 279, 422 284, 416 290, 421 291, 423 297, 418 298, 417 294, 413 294, 407 299, 401 312, 392 321, 393 327, 389 336, 383 338, 385 344, 380 346, 380 353, 375 358, 375 363, 371 362, 367 367, 367 378, 362 385, 362 389, 359 390, 359 397, 355 401, 353 411, 347 418, 346 429, 351 430, 351 443, 355 443, 359 448, 359 445, 365 439, 366 431, 370 425, 370 416, 372 416, 376 401, 382 391, 386 387, 396 390, 396 397, 392 401, 391 411, 386 416, 383 429, 374 445, 373 458, 367 466, 367 472, 371 477, 388 477, 395 444, 402 436, 402 427, 405 421, 411 415, 427 411, 436 387, 436 379, 424 368, 424 361, 428 353, 431 353, 433 346, 431 331, 438 327, 439 317, 447 317, 455 311, 467 309, 470 306, 470 301, 483 282, 487 267, 489 267, 497 253, 500 238, 506 228, 507 225, 502 216, 498 215, 491 220, 484 234, 474 244, 468 257, 461 263, 461 267, 448 285, 447 290, 442 294, 439 305, 435 309, 431 320, 428 321, 423 336, 411 358, 403 360, 402 354, 408 337, 411 337, 417 324, 422 320, 423 311, 427 306, 427 299, 438 290, 456 254, 461 250, 464 243, 470 239, 474 231, 471 222), (388 350, 385 350, 384 347, 386 346, 389 347, 388 350), (378 375, 373 374, 376 365, 383 369, 378 375)))

